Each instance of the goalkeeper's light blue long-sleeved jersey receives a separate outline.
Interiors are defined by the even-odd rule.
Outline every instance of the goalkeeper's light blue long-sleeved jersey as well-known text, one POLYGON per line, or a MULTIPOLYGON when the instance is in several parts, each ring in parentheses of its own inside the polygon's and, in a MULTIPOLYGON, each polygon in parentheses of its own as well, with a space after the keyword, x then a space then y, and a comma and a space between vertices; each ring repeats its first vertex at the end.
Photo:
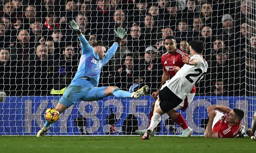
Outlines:
POLYGON ((82 55, 78 64, 77 73, 70 85, 98 87, 101 67, 108 63, 115 54, 118 44, 114 43, 106 52, 106 56, 100 60, 98 54, 89 45, 84 35, 78 36, 81 41, 82 55))

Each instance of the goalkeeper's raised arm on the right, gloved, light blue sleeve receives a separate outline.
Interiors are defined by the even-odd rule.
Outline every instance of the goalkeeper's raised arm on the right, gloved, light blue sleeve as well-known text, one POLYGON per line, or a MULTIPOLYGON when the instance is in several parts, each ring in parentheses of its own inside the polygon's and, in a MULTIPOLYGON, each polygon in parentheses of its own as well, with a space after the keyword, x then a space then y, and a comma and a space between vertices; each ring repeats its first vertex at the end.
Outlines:
POLYGON ((121 40, 126 35, 126 31, 124 30, 124 28, 118 27, 117 30, 114 29, 114 32, 115 32, 115 35, 116 35, 115 43, 108 49, 108 52, 106 53, 106 56, 102 59, 102 64, 103 65, 105 65, 109 61, 109 59, 112 58, 112 56, 116 52, 116 49, 117 49, 118 45, 121 43, 121 40))

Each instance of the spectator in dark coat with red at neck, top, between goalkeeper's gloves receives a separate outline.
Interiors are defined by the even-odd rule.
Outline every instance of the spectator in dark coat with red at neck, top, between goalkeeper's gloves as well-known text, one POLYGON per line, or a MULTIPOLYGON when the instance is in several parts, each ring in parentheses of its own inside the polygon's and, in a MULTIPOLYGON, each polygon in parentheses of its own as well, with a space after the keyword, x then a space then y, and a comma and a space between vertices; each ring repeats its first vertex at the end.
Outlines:
POLYGON ((97 0, 97 5, 91 7, 92 26, 90 28, 93 33, 96 33, 99 40, 108 41, 109 23, 113 22, 110 19, 112 16, 113 13, 109 10, 109 0, 97 0))

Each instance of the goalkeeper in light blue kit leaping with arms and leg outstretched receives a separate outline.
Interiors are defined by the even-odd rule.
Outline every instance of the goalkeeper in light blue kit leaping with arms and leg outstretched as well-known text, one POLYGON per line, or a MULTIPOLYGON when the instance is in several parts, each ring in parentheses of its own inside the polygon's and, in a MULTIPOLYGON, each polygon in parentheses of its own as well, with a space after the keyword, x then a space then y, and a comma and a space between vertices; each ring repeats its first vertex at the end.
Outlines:
MULTIPOLYGON (((96 43, 92 46, 89 45, 74 20, 69 22, 69 27, 77 32, 78 38, 81 41, 82 55, 78 64, 77 73, 56 107, 60 113, 71 105, 76 104, 76 101, 79 99, 82 101, 97 101, 110 95, 114 95, 118 98, 138 99, 148 92, 148 86, 144 86, 133 93, 120 90, 118 87, 114 86, 97 87, 101 67, 108 63, 109 59, 111 59, 116 52, 121 40, 126 35, 126 31, 123 28, 118 27, 117 31, 114 30, 116 35, 115 43, 106 53, 105 46, 100 43, 96 43)), ((50 127, 51 123, 46 121, 44 127, 38 131, 37 137, 44 136, 50 127)))

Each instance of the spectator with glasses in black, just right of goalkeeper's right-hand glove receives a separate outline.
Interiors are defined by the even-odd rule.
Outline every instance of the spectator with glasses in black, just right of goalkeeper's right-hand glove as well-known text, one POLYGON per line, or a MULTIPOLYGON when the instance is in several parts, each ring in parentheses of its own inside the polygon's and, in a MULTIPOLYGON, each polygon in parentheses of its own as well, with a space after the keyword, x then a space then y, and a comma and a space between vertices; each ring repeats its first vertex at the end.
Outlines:
POLYGON ((136 57, 136 52, 140 53, 140 56, 144 56, 145 53, 145 46, 149 46, 150 42, 145 41, 145 35, 141 33, 141 29, 138 24, 133 24, 130 30, 130 34, 128 34, 127 37, 127 47, 135 53, 135 57, 138 59, 139 57, 136 57))

